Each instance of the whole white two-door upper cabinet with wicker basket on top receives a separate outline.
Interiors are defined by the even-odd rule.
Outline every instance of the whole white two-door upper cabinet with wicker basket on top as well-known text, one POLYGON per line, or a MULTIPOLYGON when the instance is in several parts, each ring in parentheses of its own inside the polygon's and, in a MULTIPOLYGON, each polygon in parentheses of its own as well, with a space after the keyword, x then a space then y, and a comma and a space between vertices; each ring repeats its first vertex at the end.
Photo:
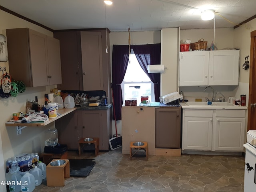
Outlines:
POLYGON ((238 85, 240 50, 180 52, 179 86, 238 85))

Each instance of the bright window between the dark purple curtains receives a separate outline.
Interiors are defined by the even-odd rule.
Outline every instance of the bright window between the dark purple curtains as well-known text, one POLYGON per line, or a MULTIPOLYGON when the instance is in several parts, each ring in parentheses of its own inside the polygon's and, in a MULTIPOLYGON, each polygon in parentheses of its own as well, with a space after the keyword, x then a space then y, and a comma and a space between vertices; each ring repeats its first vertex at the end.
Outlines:
POLYGON ((141 96, 148 96, 151 102, 155 101, 154 84, 142 70, 133 51, 130 54, 127 70, 122 82, 123 101, 127 98, 136 98, 140 104, 141 96))

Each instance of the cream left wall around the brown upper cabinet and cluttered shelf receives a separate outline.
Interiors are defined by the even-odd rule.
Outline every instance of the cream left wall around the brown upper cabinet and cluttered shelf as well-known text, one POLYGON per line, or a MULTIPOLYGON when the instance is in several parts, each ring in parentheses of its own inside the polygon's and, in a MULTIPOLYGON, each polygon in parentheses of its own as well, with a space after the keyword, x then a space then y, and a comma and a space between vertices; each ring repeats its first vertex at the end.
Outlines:
MULTIPOLYGON (((2 10, 0 10, 0 18, 2 18, 0 20, 0 34, 4 34, 4 36, 6 36, 7 28, 31 28, 48 36, 53 36, 52 32, 2 10)), ((0 66, 6 67, 6 72, 9 72, 8 62, 0 62, 0 66)), ((0 75, 2 75, 2 72, 0 75)), ((35 96, 38 96, 39 104, 43 104, 44 94, 49 93, 52 88, 55 88, 55 86, 26 88, 26 91, 19 93, 17 97, 7 99, 0 97, 0 182, 5 181, 10 176, 10 174, 5 174, 6 160, 22 153, 43 152, 44 130, 54 127, 54 123, 45 127, 27 127, 22 130, 21 135, 17 136, 16 128, 13 126, 6 127, 5 122, 12 118, 12 113, 25 112, 26 101, 34 100, 35 96)), ((6 191, 6 186, 0 185, 0 191, 6 191)))

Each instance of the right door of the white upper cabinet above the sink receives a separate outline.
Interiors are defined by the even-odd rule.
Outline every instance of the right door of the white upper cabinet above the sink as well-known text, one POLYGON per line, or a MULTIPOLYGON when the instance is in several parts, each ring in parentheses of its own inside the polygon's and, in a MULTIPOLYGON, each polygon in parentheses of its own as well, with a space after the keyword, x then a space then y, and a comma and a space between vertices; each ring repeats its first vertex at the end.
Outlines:
POLYGON ((240 50, 210 51, 209 85, 238 85, 240 50))

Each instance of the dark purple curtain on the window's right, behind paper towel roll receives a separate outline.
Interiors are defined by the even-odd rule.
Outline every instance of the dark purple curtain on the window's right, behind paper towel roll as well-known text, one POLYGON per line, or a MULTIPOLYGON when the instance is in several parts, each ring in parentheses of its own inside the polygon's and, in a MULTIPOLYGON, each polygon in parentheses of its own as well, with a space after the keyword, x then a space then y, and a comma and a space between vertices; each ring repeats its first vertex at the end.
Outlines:
POLYGON ((161 44, 148 44, 148 45, 131 45, 131 48, 136 55, 136 58, 143 69, 148 75, 150 80, 154 83, 155 100, 159 102, 160 99, 160 73, 148 73, 148 65, 160 65, 161 62, 161 44))

